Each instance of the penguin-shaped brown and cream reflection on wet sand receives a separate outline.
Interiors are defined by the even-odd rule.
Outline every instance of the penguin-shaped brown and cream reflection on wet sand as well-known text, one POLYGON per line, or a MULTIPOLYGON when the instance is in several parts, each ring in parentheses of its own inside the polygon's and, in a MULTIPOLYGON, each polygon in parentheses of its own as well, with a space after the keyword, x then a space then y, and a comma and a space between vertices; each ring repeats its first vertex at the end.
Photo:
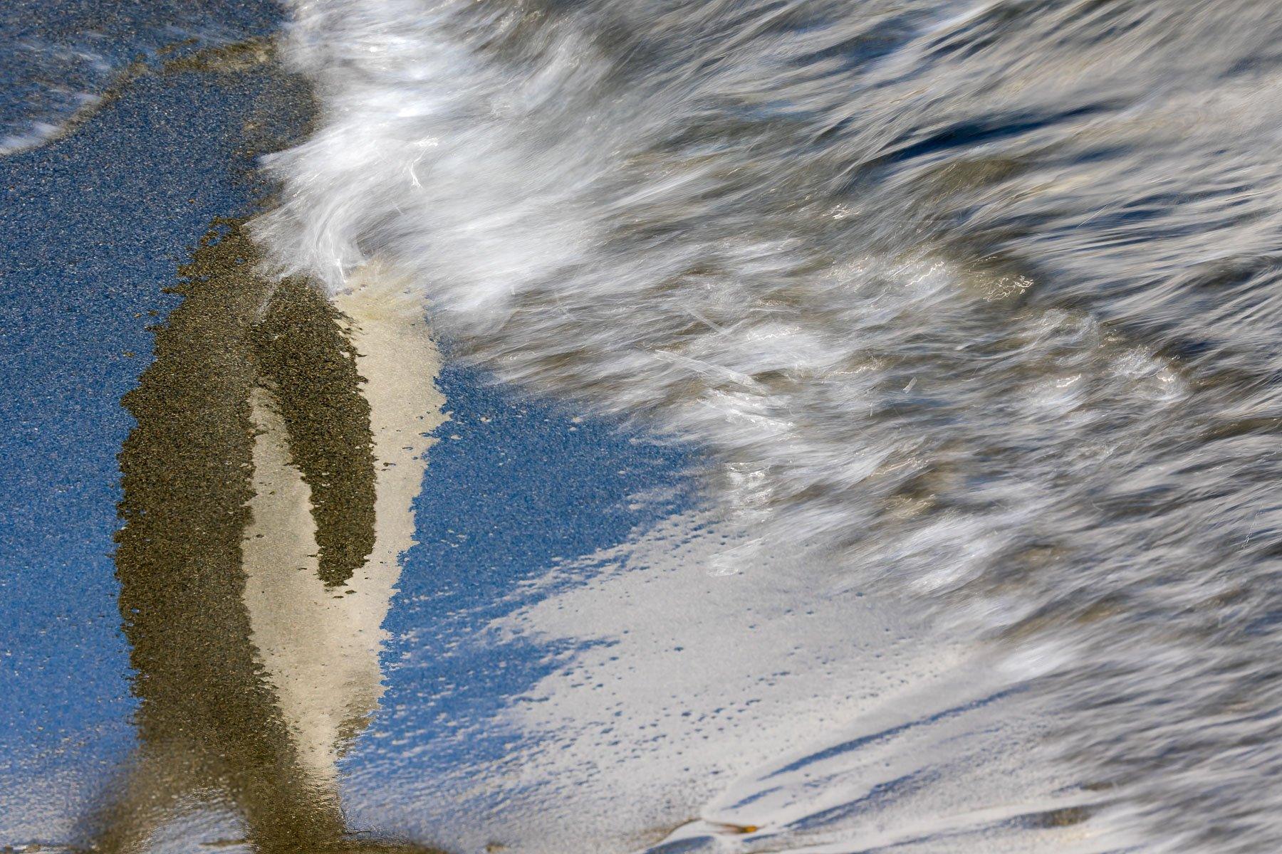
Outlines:
POLYGON ((262 282, 255 259, 218 223, 124 399, 117 572, 138 748, 85 836, 141 851, 214 810, 264 854, 424 851, 350 834, 336 763, 382 693, 381 624, 442 420, 436 351, 387 277, 335 307, 262 282))

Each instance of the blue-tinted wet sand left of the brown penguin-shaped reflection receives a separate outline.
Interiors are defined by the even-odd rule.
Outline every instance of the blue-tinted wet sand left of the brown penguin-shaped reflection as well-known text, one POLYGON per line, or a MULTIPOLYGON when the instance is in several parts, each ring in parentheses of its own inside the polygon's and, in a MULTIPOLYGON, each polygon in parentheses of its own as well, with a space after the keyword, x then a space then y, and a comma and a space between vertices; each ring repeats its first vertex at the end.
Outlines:
MULTIPOLYGON (((6 789, 50 763, 100 769, 129 744, 110 560, 115 455, 132 426, 119 401, 149 361, 146 328, 174 303, 162 291, 188 248, 214 216, 253 209, 244 122, 272 115, 259 105, 282 82, 144 74, 77 132, 0 160, 6 789)), ((0 841, 15 841, 3 823, 21 816, 3 804, 0 816, 0 841)))

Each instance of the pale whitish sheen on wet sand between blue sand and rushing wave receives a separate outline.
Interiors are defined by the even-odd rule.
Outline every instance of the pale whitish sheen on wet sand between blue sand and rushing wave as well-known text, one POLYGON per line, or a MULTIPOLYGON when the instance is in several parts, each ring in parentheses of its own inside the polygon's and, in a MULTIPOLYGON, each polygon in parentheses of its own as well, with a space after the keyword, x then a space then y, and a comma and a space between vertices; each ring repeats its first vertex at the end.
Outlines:
POLYGON ((709 572, 724 531, 677 515, 499 621, 579 652, 501 716, 528 737, 481 791, 441 799, 445 848, 1110 850, 991 656, 886 597, 815 595, 840 567, 814 552, 709 572), (472 808, 495 789, 501 810, 472 808))

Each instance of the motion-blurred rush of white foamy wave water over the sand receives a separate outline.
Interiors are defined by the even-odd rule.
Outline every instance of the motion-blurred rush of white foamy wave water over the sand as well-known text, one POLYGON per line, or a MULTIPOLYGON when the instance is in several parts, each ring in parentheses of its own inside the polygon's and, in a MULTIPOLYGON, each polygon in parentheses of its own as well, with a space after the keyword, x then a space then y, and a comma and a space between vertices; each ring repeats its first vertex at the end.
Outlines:
POLYGON ((258 234, 705 447, 714 576, 819 549, 815 600, 986 639, 1108 844, 1277 850, 1279 37, 1263 0, 297 3, 323 118, 258 234))

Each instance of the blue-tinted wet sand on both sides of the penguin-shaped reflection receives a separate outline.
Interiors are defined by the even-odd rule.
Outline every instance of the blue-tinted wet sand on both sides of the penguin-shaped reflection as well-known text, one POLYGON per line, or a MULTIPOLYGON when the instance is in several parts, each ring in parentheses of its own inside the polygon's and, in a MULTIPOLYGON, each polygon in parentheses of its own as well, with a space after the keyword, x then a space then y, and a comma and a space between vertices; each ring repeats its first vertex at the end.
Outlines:
MULTIPOLYGON (((82 6, 79 18, 59 24, 86 26, 92 9, 82 6)), ((10 44, 36 14, 13 9, 0 17, 10 44)), ((287 145, 306 119, 305 90, 271 64, 164 72, 154 49, 174 10, 144 12, 100 29, 118 40, 115 50, 135 40, 151 70, 67 137, 0 159, 0 415, 8 426, 0 442, 0 845, 73 841, 68 828, 133 745, 112 563, 117 453, 132 428, 121 397, 150 361, 149 324, 163 323, 177 302, 163 292, 177 266, 215 218, 250 215, 267 196, 254 175, 267 149, 255 145, 287 145), (27 793, 53 777, 60 819, 35 821, 27 793)), ((262 36, 276 15, 273 4, 240 4, 223 24, 231 36, 262 36)), ((396 711, 379 721, 399 736, 397 752, 406 740, 426 745, 435 767, 460 758, 440 720, 464 712, 477 720, 497 708, 547 672, 558 652, 508 645, 464 654, 450 652, 450 640, 514 608, 505 597, 517 583, 558 558, 608 548, 670 511, 629 510, 628 497, 683 494, 687 463, 676 449, 610 424, 577 423, 472 370, 447 366, 440 384, 451 420, 429 452, 417 502, 420 544, 406 557, 387 621, 394 641, 383 708, 396 711)), ((503 749, 499 736, 467 745, 473 757, 503 749)), ((359 746, 350 762, 382 764, 377 745, 359 746)), ((419 772, 413 763, 387 767, 419 772)))

